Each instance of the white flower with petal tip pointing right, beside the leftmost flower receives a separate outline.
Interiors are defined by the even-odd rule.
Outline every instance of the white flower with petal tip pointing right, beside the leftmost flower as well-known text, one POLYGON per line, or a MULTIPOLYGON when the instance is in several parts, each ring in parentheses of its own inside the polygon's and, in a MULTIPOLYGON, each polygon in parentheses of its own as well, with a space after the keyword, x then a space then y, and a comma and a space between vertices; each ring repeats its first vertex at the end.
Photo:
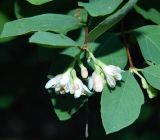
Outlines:
POLYGON ((73 81, 73 85, 70 88, 70 93, 74 94, 75 98, 79 98, 81 95, 85 95, 85 93, 91 93, 90 90, 83 84, 83 82, 76 78, 73 81))

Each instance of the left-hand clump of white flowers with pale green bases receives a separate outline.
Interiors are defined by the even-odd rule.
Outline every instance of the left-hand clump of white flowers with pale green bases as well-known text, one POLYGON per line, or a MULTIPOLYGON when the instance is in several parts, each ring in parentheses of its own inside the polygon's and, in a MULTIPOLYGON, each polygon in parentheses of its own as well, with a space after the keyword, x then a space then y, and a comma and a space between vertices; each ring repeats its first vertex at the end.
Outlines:
POLYGON ((74 69, 68 69, 65 73, 50 79, 45 88, 54 88, 55 92, 60 94, 74 94, 75 98, 86 95, 86 93, 91 93, 86 85, 77 77, 74 69))

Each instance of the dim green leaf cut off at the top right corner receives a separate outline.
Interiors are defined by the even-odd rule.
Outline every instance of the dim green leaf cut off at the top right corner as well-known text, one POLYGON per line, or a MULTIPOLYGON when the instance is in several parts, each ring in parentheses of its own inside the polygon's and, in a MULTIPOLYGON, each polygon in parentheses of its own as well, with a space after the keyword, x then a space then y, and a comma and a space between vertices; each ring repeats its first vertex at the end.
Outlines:
POLYGON ((142 15, 145 19, 151 20, 156 24, 160 24, 160 12, 158 12, 156 9, 152 8, 152 9, 149 9, 148 11, 145 11, 139 6, 135 6, 135 10, 137 13, 142 15))

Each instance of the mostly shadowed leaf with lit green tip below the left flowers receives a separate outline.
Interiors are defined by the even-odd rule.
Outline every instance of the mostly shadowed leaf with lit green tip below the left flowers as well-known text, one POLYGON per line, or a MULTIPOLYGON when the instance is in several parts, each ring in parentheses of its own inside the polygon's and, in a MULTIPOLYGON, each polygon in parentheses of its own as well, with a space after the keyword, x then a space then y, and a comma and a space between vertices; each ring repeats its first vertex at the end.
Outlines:
POLYGON ((86 102, 84 98, 75 99, 73 95, 69 94, 66 96, 53 94, 51 101, 55 113, 61 121, 70 119, 86 102))

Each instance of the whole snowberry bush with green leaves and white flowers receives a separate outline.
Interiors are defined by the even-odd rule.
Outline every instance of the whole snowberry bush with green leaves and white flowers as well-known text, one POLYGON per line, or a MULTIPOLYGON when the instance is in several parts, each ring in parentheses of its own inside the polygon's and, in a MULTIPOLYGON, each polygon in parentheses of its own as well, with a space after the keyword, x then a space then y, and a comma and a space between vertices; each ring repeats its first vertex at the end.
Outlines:
MULTIPOLYGON (((33 5, 54 3, 27 1, 33 5)), ((44 86, 52 96, 57 116, 60 120, 71 118, 91 96, 100 94, 102 124, 107 134, 113 133, 138 118, 144 94, 154 98, 160 90, 160 13, 155 9, 146 11, 137 2, 77 2, 77 8, 66 14, 45 13, 7 22, 0 37, 29 34, 30 43, 60 49, 44 86), (123 19, 131 11, 146 19, 146 24, 126 29, 123 19), (77 39, 70 35, 75 31, 80 32, 77 39), (131 55, 133 42, 143 55, 142 67, 134 64, 139 60, 131 55), (64 55, 71 58, 69 63, 66 59, 59 62, 64 55), (66 67, 57 69, 62 65, 66 67)))

